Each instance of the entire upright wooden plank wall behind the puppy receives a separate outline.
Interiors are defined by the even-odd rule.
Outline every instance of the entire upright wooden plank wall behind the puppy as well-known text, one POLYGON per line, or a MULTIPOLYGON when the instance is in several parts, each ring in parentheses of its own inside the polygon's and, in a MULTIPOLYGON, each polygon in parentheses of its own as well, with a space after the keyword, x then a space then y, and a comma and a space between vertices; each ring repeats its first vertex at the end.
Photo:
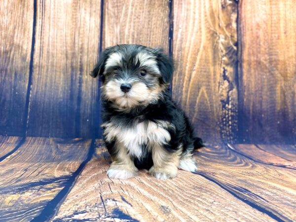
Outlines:
POLYGON ((173 98, 204 140, 295 143, 293 1, 3 0, 0 134, 100 137, 88 73, 137 43, 173 56, 173 98))

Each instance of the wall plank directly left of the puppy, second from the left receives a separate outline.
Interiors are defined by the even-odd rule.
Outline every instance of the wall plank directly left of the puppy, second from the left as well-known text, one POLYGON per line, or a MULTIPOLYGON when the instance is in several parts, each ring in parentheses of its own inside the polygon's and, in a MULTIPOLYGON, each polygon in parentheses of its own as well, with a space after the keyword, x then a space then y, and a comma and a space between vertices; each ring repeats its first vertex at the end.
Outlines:
POLYGON ((97 61, 101 1, 37 1, 28 136, 99 135, 97 61))

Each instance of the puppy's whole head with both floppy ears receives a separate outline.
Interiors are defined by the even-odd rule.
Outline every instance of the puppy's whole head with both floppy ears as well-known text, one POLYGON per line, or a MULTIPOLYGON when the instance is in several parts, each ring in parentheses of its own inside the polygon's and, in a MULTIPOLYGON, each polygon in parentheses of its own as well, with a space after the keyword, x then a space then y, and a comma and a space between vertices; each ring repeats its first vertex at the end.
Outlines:
POLYGON ((101 77, 102 96, 117 109, 156 102, 162 97, 172 74, 172 61, 163 50, 142 45, 107 48, 91 73, 93 77, 101 77))

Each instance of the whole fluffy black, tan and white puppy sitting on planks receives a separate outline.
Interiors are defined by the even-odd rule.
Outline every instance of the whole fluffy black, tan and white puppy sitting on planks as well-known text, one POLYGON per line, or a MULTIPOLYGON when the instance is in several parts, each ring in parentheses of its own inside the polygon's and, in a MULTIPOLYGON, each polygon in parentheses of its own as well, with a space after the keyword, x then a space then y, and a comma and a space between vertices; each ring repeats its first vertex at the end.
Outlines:
POLYGON ((194 138, 185 113, 172 101, 173 63, 162 49, 142 45, 107 48, 91 75, 100 76, 103 136, 112 163, 110 178, 134 177, 147 169, 158 179, 195 171, 194 138))

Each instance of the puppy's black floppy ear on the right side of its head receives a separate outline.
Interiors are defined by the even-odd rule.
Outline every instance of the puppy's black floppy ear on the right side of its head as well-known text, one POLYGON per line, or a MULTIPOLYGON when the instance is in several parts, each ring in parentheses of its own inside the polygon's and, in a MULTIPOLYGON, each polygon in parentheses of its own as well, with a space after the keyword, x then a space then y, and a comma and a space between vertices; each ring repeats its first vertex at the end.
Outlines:
POLYGON ((153 53, 156 55, 157 66, 162 76, 161 80, 164 83, 170 83, 174 72, 173 60, 161 48, 155 48, 153 53))

